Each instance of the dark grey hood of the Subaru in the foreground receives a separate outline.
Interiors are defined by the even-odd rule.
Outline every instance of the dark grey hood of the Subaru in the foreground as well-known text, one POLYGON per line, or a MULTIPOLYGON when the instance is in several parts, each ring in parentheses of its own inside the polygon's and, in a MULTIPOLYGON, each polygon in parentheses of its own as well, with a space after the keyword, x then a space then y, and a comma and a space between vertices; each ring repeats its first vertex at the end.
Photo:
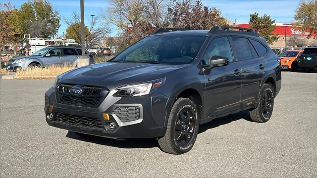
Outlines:
POLYGON ((58 82, 105 86, 114 89, 122 85, 142 83, 166 77, 168 73, 188 65, 148 64, 137 62, 103 62, 68 71, 58 76, 58 82))

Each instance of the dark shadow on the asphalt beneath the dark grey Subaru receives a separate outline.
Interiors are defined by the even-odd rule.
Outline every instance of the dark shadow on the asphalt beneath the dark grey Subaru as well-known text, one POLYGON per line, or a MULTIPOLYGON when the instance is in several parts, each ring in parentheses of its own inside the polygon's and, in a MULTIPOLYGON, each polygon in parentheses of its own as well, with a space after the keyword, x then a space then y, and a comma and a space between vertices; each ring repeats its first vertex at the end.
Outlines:
MULTIPOLYGON (((231 122, 237 121, 239 119, 245 119, 251 121, 248 111, 241 111, 237 114, 231 114, 225 117, 216 118, 209 123, 199 126, 199 134, 203 133, 209 129, 219 127, 221 125, 229 124, 231 122)), ((252 122, 252 121, 251 121, 252 122)), ((119 147, 119 148, 153 148, 159 147, 158 141, 156 138, 129 138, 125 140, 118 140, 113 138, 106 138, 101 136, 83 134, 78 135, 72 131, 68 131, 66 137, 77 139, 85 142, 119 147)))

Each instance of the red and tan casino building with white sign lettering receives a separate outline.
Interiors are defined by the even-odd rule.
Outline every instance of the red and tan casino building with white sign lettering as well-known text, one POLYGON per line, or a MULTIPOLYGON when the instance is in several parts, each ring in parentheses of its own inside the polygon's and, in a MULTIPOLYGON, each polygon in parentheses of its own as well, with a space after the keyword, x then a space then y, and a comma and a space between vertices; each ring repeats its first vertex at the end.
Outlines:
MULTIPOLYGON (((250 24, 248 23, 237 23, 235 26, 250 28, 250 24)), ((317 45, 317 40, 313 38, 315 34, 311 34, 309 29, 302 31, 292 24, 277 23, 273 34, 278 34, 279 38, 277 42, 270 45, 271 47, 305 47, 307 45, 317 45), (312 37, 307 39, 309 34, 311 34, 312 37)))

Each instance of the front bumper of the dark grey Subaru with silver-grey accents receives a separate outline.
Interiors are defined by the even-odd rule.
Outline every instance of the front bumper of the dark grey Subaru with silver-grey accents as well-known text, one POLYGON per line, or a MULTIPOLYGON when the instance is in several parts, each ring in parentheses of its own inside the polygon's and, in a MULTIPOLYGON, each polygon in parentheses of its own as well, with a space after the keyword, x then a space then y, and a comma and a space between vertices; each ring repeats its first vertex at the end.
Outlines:
POLYGON ((106 96, 103 103, 98 108, 88 108, 72 106, 56 102, 54 88, 45 93, 45 113, 46 121, 50 126, 85 134, 93 134, 112 138, 152 138, 163 136, 166 132, 166 102, 168 97, 153 93, 138 97, 113 97, 112 92, 106 96), (49 111, 49 106, 53 106, 53 111, 49 111), (114 110, 118 107, 139 107, 139 119, 135 121, 122 121, 114 110), (52 113, 53 118, 48 115, 52 113), (109 120, 105 121, 103 113, 108 113, 109 120), (73 118, 88 118, 87 123, 76 123, 72 119, 70 123, 60 122, 59 116, 66 115, 73 118), (93 122, 90 120, 94 120, 93 122), (95 122, 100 123, 100 127, 93 126, 95 122), (114 129, 109 128, 109 124, 114 124, 114 129), (91 125, 90 125, 91 124, 91 125))

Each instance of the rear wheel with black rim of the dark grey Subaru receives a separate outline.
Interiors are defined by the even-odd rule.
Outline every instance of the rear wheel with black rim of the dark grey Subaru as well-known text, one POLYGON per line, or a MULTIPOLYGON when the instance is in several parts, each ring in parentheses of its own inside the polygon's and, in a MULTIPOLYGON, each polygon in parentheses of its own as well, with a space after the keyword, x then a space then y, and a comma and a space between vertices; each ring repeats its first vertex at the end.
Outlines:
POLYGON ((264 84, 263 87, 261 88, 258 107, 249 111, 252 121, 259 122, 259 123, 267 122, 273 113, 273 106, 274 106, 273 89, 270 85, 264 84), (265 105, 264 105, 264 102, 265 102, 265 105))

